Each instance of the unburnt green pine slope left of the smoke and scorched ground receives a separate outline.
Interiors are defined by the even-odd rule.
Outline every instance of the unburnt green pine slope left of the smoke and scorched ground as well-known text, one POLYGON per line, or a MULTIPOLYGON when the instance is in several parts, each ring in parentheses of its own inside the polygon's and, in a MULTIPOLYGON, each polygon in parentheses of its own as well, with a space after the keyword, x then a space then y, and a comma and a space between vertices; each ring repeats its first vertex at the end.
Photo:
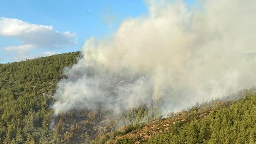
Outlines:
POLYGON ((0 143, 35 144, 59 140, 49 129, 52 93, 62 68, 79 52, 0 64, 0 143))

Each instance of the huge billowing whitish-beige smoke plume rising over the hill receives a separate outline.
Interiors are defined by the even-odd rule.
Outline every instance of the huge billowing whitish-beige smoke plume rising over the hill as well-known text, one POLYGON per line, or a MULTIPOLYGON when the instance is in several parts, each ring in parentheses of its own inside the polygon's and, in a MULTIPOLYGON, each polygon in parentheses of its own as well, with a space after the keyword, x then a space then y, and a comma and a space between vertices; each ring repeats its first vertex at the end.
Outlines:
POLYGON ((111 40, 86 40, 58 82, 56 115, 159 104, 163 114, 256 82, 256 1, 149 2, 148 16, 122 22, 111 40))

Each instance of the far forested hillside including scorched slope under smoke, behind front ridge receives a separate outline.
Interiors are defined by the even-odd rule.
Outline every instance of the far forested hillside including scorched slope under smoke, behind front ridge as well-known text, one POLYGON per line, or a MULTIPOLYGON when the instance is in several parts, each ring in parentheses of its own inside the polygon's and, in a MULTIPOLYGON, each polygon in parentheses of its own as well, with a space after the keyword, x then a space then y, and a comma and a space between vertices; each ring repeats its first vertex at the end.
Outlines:
POLYGON ((79 56, 72 52, 0 64, 0 144, 86 144, 116 129, 117 124, 138 122, 146 116, 142 104, 116 116, 99 106, 96 112, 70 110, 53 118, 56 84, 66 78, 62 69, 75 64, 79 56), (52 128, 51 122, 55 122, 52 128))

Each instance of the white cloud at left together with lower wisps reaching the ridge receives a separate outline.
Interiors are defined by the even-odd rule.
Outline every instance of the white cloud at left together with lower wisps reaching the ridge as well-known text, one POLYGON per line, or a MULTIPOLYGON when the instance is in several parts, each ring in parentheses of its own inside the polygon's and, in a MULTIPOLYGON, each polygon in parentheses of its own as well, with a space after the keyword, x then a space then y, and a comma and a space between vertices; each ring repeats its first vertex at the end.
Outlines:
MULTIPOLYGON (((0 36, 22 40, 22 44, 7 46, 4 50, 6 52, 14 52, 14 55, 16 55, 15 60, 23 60, 34 57, 28 56, 28 52, 37 48, 60 48, 61 46, 74 44, 73 39, 76 34, 58 32, 54 30, 53 26, 30 24, 15 18, 0 18, 0 36)), ((45 56, 52 53, 45 52, 41 54, 40 56, 45 56)))

